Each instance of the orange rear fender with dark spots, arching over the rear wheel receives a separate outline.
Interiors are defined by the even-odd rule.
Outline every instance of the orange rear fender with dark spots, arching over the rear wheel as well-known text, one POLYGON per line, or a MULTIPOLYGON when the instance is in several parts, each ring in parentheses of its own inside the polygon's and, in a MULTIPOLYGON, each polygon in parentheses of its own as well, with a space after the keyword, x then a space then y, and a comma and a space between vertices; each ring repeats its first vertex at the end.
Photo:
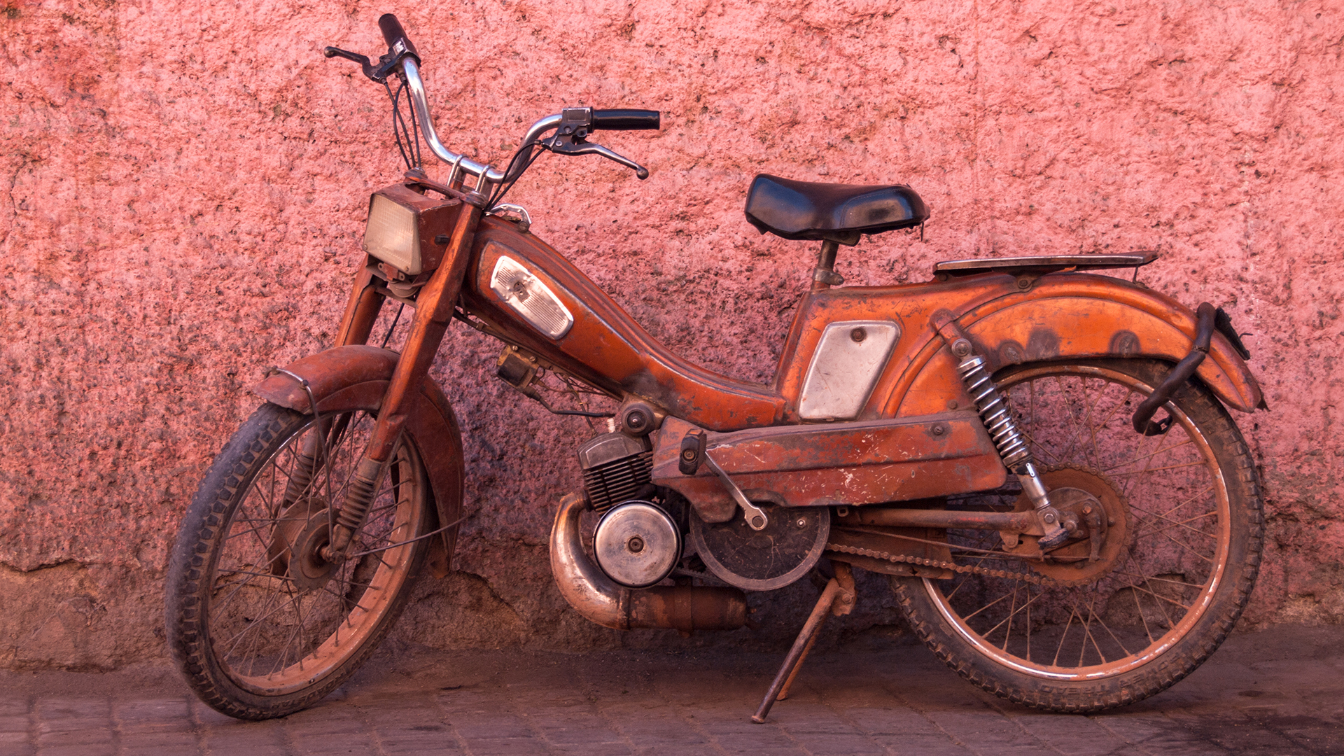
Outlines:
MULTIPOLYGON (((956 313, 992 371, 1060 358, 1156 358, 1179 362, 1195 340, 1195 312, 1137 284, 1082 273, 1042 276, 1030 291, 992 299, 956 313)), ((890 406, 899 414, 926 412, 919 397, 957 382, 956 365, 934 338, 910 367, 913 381, 890 406), (909 406, 907 406, 909 405, 909 406)), ((1195 374, 1230 408, 1265 408, 1250 366, 1219 332, 1195 374)))

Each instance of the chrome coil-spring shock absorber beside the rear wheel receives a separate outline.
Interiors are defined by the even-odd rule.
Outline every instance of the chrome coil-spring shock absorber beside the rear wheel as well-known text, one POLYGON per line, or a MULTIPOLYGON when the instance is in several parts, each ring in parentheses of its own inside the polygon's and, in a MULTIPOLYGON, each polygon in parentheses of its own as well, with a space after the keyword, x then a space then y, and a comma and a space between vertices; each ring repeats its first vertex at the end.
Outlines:
POLYGON ((1031 449, 1017 430, 1017 422, 1008 412, 1008 405, 999 393, 999 386, 995 386, 993 378, 985 370, 984 358, 974 352, 969 340, 960 338, 952 343, 952 354, 961 361, 957 363, 957 374, 961 375, 961 382, 966 386, 970 400, 976 402, 980 418, 985 422, 985 429, 989 432, 995 448, 999 449, 1004 467, 1017 476, 1023 492, 1031 499, 1046 526, 1046 535, 1040 539, 1040 546, 1048 549, 1063 542, 1068 538, 1068 531, 1059 525, 1059 513, 1050 503, 1050 494, 1036 471, 1031 449))

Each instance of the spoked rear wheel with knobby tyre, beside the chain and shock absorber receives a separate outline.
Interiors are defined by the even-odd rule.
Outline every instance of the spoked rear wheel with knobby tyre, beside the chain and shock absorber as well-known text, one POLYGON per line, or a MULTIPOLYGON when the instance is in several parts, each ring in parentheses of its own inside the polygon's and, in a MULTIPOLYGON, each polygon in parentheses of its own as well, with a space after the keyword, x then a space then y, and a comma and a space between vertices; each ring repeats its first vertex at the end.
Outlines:
POLYGON ((996 375, 1047 486, 1091 494, 1109 527, 1098 550, 1083 541, 1047 558, 1012 534, 950 530, 952 577, 894 578, 915 632, 958 674, 1028 706, 1097 712, 1165 690, 1231 631, 1259 568, 1255 467, 1203 386, 1176 391, 1167 433, 1133 430, 1134 408, 1168 369, 1086 361, 996 375))

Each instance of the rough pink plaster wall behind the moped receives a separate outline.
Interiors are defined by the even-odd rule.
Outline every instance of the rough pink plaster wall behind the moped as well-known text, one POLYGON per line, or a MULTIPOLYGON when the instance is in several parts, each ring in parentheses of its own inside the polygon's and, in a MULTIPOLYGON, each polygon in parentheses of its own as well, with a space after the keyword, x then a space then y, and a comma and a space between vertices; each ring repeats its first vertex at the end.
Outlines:
MULTIPOLYGON (((1238 417, 1269 515, 1247 621, 1344 620, 1339 3, 4 1, 0 666, 163 652, 180 513, 262 369, 331 343, 368 192, 398 176, 380 90, 320 55, 379 50, 384 11, 468 155, 507 159, 563 105, 665 113, 605 137, 648 182, 548 157, 512 199, 655 335, 735 377, 770 378, 810 269, 809 246, 743 221, 757 172, 923 195, 925 239, 845 249, 851 282, 1161 250, 1142 278, 1253 332, 1273 409, 1238 417)), ((493 354, 462 332, 441 352, 472 519, 401 642, 681 643, 562 611, 546 534, 593 430, 505 390, 493 354)), ((765 600, 786 626, 759 642, 810 596, 765 600)), ((899 632, 878 596, 847 632, 899 632)))

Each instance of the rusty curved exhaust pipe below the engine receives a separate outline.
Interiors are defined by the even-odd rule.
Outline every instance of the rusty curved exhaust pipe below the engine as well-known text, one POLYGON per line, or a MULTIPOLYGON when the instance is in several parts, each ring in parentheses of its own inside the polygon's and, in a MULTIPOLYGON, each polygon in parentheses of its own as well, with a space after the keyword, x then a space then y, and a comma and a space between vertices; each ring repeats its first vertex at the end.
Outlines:
POLYGON ((617 585, 583 553, 583 496, 560 499, 551 527, 551 573, 564 600, 589 620, 614 630, 667 627, 737 630, 747 623, 747 597, 737 588, 676 585, 632 591, 617 585))

